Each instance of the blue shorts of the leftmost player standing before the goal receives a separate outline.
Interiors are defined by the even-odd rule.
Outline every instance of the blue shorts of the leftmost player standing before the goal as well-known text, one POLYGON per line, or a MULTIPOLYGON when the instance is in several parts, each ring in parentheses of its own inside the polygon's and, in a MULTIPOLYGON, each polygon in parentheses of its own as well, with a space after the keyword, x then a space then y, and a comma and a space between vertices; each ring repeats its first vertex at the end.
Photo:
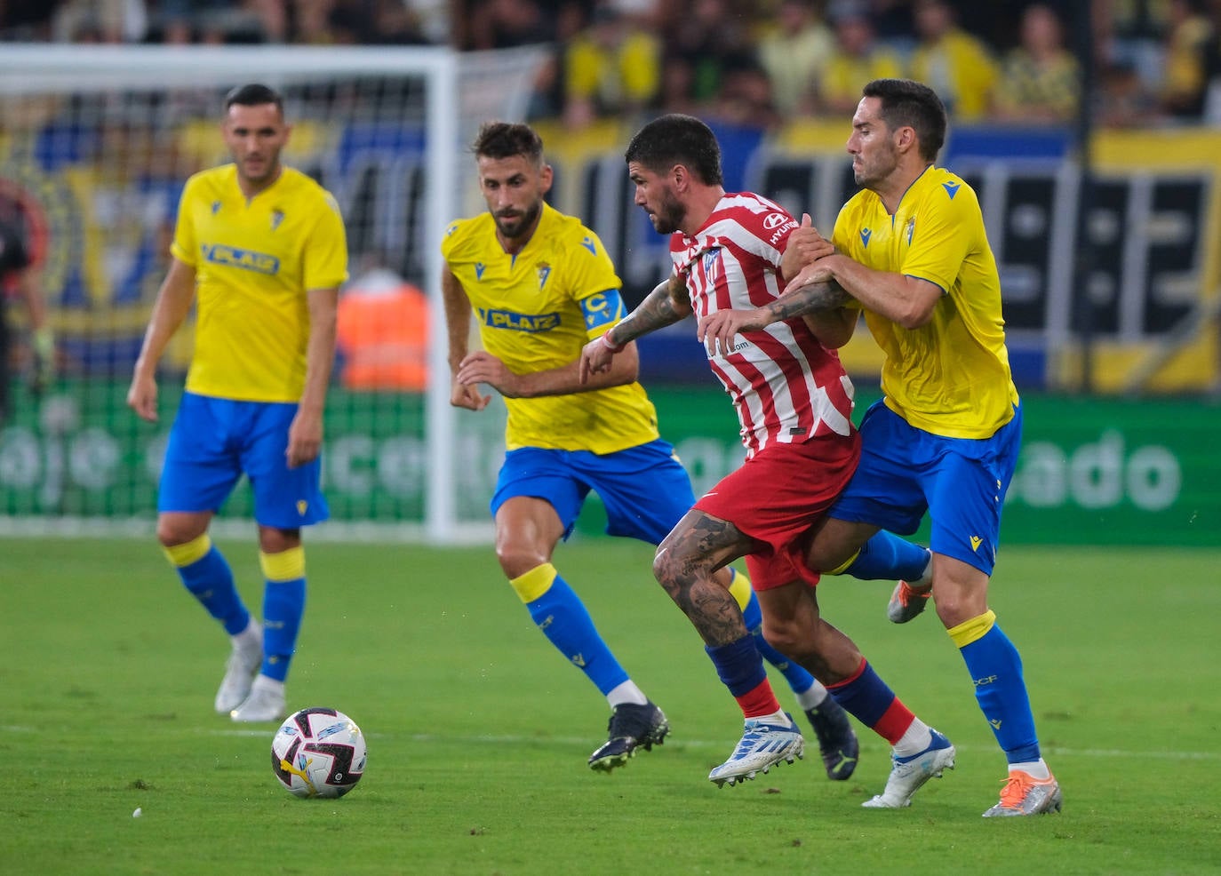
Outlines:
POLYGON ((161 467, 158 511, 217 511, 245 475, 254 519, 295 530, 326 520, 322 462, 289 469, 288 427, 297 405, 183 393, 161 467))

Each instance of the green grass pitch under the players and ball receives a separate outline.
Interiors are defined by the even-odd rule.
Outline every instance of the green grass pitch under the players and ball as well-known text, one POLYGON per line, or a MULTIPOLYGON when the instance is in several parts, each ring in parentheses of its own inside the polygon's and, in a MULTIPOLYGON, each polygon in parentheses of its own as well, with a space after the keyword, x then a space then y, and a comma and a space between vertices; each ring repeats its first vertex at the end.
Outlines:
MULTIPOLYGON (((258 610, 253 533, 221 547, 258 610)), ((958 655, 932 612, 888 623, 883 582, 828 580, 819 597, 958 748, 899 811, 861 808, 888 752, 860 727, 847 782, 814 750, 735 788, 707 781, 740 714, 646 545, 578 538, 556 558, 673 725, 604 776, 585 765, 604 702, 490 547, 311 543, 289 705, 349 714, 369 766, 343 799, 299 800, 272 777, 275 727, 212 714, 227 643, 151 538, 0 553, 5 874, 1221 872, 1221 550, 1002 551, 993 608, 1065 797, 1015 820, 979 817, 1005 765, 958 655)))

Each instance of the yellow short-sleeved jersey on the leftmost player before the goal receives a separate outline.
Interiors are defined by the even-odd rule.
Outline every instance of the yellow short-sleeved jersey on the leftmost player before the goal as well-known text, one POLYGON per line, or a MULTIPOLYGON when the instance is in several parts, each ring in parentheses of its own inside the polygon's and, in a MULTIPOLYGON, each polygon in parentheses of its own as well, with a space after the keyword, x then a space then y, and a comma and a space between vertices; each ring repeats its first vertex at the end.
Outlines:
POLYGON ((348 278, 335 198, 284 167, 253 198, 237 167, 187 181, 170 250, 195 268, 195 350, 187 390, 241 401, 299 401, 305 387, 305 293, 348 278))

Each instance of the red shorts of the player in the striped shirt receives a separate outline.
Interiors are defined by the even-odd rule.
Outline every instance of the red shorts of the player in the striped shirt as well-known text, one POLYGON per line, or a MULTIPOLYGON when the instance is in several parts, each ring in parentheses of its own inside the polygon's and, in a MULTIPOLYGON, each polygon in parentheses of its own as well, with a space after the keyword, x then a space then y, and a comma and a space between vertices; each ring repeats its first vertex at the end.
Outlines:
POLYGON ((803 444, 768 444, 705 493, 695 508, 728 521, 757 542, 746 572, 757 591, 794 581, 818 583, 806 566, 810 528, 856 471, 861 437, 838 434, 803 444))

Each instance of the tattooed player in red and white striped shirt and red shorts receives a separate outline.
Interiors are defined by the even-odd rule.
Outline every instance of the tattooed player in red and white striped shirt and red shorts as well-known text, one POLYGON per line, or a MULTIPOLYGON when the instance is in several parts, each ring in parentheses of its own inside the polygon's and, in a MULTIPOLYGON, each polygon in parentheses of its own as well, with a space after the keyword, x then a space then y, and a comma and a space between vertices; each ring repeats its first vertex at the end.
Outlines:
MULTIPOLYGON (((672 234, 674 272, 623 321, 585 346, 582 373, 607 368, 621 345, 695 314, 752 310, 779 296, 781 257, 799 223, 751 193, 726 194, 712 131, 690 116, 646 124, 626 150, 636 204, 672 234)), ((708 346, 708 364, 734 401, 745 464, 706 493, 658 547, 653 572, 703 637, 746 730, 708 778, 735 783, 791 761, 799 731, 768 684, 733 598, 712 573, 740 556, 763 608, 764 633, 799 643, 789 656, 827 684, 835 700, 894 747, 907 805, 928 778, 954 766, 950 742, 921 721, 873 671, 850 638, 822 619, 806 565, 812 532, 856 469, 852 384, 834 349, 847 343, 856 314, 836 310, 774 322, 708 346)), ((919 580, 928 553, 879 532, 842 569, 866 578, 919 580)))

